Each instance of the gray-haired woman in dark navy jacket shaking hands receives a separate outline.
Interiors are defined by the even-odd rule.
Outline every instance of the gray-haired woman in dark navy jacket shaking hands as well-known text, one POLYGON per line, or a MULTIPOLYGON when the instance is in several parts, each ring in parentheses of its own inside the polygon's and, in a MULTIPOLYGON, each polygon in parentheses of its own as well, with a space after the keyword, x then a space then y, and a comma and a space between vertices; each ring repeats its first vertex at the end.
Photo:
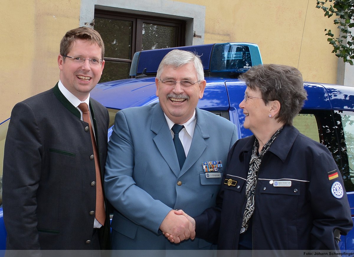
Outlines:
POLYGON ((195 217, 196 236, 218 250, 339 250, 353 225, 341 174, 324 145, 292 126, 307 97, 301 73, 270 64, 241 79, 254 135, 230 150, 217 207, 195 217))

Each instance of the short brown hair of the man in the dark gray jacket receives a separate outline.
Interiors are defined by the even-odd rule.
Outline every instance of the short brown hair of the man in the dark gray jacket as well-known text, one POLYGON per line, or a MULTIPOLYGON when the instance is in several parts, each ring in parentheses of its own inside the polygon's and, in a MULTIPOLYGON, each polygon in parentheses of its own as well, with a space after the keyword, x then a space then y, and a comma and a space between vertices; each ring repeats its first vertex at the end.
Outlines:
MULTIPOLYGON (((70 49, 72 48, 76 39, 84 39, 90 41, 91 43, 96 43, 101 48, 101 59, 103 60, 103 40, 96 30, 87 27, 79 27, 69 30, 67 33, 65 33, 62 41, 60 42, 60 54, 62 56, 68 55, 68 52, 70 52, 70 49)), ((63 60, 65 60, 65 57, 63 57, 63 60)))

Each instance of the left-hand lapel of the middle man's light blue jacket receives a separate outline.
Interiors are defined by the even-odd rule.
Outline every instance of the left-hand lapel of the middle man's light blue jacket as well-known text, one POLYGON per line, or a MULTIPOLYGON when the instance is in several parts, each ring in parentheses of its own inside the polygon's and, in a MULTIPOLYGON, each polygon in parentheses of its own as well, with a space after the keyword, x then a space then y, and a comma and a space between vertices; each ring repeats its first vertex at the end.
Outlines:
POLYGON ((151 120, 150 130, 156 133, 153 138, 157 148, 159 149, 162 157, 164 157, 166 163, 170 166, 176 177, 179 174, 179 164, 177 159, 177 153, 175 145, 172 141, 171 132, 161 109, 160 104, 156 104, 151 120))

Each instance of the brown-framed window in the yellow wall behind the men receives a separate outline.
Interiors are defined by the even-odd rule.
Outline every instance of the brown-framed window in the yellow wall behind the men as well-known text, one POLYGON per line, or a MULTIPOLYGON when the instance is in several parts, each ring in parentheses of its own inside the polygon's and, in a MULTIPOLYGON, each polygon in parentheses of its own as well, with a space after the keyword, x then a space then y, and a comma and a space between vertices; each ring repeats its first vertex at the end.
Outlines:
POLYGON ((95 10, 94 23, 105 47, 99 82, 129 78, 137 51, 185 45, 183 20, 95 10))

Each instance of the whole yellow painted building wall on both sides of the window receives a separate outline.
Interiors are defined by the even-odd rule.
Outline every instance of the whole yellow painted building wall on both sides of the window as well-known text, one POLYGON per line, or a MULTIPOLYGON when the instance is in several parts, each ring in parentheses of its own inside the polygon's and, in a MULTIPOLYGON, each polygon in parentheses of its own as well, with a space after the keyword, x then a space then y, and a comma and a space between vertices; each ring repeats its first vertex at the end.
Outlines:
MULTIPOLYGON (((336 83, 338 58, 324 29, 337 29, 316 0, 179 1, 206 6, 205 44, 256 43, 264 63, 298 67, 307 81, 336 83)), ((0 0, 0 122, 17 102, 58 81, 59 42, 79 26, 79 16, 80 0, 0 0)))

